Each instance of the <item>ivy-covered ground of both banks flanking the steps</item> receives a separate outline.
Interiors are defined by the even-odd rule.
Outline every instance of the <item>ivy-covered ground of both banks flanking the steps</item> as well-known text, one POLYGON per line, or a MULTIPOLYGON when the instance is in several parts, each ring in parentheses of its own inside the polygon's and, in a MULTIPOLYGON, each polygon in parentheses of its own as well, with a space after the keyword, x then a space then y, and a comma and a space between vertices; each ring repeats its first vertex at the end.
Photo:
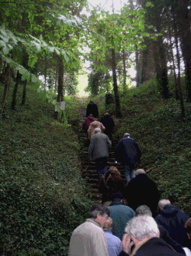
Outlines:
MULTIPOLYGON (((83 102, 66 97, 65 126, 54 118, 53 105, 34 90, 28 89, 26 104, 20 105, 20 89, 15 111, 10 110, 9 89, 0 119, 0 254, 66 255, 73 229, 87 218, 92 205, 80 173, 83 102)), ((2 92, 0 86, 0 97, 2 92)), ((129 132, 141 147, 138 167, 148 170, 160 197, 191 216, 190 103, 184 102, 186 118, 181 118, 173 92, 163 100, 155 83, 150 83, 121 94, 122 118, 117 119, 114 103, 105 106, 104 99, 104 95, 93 98, 100 117, 108 111, 115 119, 113 139, 129 132)))

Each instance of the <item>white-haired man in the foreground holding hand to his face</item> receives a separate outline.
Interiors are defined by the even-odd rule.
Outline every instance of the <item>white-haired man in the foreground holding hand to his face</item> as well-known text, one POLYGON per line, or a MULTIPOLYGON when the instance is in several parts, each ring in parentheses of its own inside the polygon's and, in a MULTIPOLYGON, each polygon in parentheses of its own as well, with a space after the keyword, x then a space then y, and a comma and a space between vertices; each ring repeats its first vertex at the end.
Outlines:
POLYGON ((128 222, 125 232, 122 240, 123 251, 119 256, 185 256, 174 251, 166 241, 159 238, 157 222, 151 216, 134 217, 128 222))

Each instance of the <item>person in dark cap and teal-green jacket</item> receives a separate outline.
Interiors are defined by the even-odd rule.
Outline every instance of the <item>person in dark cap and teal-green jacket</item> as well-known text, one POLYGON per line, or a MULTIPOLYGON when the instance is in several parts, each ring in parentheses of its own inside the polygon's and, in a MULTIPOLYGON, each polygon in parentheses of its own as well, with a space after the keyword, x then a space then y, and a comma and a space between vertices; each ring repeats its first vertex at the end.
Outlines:
POLYGON ((128 206, 123 204, 123 196, 115 193, 111 196, 112 203, 108 206, 110 218, 113 220, 112 233, 119 239, 125 234, 125 226, 128 221, 135 216, 135 212, 128 206))

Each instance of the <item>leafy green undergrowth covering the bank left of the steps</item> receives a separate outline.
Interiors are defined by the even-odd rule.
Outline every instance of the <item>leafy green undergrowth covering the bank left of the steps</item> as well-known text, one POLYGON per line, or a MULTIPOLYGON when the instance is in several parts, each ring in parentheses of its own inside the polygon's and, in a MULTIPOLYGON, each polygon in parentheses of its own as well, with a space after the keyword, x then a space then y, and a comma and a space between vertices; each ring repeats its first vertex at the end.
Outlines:
MULTIPOLYGON (((26 105, 0 120, 1 255, 66 255, 71 232, 89 211, 78 136, 53 112, 28 89, 26 105)), ((66 113, 79 120, 71 108, 66 113)))

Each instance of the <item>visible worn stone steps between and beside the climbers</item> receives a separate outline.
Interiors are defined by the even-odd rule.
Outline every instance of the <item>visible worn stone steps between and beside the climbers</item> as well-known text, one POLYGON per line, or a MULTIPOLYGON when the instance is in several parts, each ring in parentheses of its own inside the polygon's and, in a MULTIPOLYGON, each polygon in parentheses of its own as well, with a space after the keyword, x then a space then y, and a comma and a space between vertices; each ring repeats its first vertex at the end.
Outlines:
MULTIPOLYGON (((88 158, 88 140, 86 138, 86 133, 81 132, 79 134, 79 143, 81 144, 80 158, 82 163, 82 176, 86 180, 89 190, 91 190, 92 201, 101 203, 102 194, 98 191, 98 177, 96 173, 96 166, 94 161, 90 161, 88 158)), ((121 176, 125 180, 125 175, 123 167, 118 164, 115 164, 115 147, 118 144, 118 141, 112 141, 112 148, 109 149, 108 154, 108 167, 115 166, 121 173, 121 176)))

